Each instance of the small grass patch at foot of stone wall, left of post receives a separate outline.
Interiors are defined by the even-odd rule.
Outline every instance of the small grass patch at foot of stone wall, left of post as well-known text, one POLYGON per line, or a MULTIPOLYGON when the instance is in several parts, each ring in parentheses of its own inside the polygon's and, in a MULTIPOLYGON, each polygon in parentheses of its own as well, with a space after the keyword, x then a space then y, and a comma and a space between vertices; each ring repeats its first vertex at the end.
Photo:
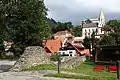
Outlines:
POLYGON ((34 70, 55 70, 56 66, 54 64, 41 64, 38 66, 32 66, 27 71, 34 71, 34 70))

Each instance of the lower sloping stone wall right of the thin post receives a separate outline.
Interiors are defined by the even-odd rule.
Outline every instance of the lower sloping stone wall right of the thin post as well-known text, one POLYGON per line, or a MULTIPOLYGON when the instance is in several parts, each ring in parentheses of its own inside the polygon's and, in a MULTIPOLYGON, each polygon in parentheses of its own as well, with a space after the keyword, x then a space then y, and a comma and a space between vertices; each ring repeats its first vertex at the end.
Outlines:
POLYGON ((72 69, 74 67, 79 66, 86 60, 85 56, 77 56, 77 57, 67 57, 64 61, 61 62, 61 68, 69 68, 72 69))

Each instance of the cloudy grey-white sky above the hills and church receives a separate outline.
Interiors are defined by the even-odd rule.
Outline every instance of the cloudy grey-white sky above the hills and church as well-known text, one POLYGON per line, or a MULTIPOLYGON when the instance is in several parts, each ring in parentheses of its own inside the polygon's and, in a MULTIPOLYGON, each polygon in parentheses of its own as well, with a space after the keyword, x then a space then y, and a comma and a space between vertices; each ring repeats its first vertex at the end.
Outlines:
POLYGON ((98 18, 104 10, 106 20, 120 19, 120 0, 44 0, 48 17, 74 25, 87 18, 98 18))

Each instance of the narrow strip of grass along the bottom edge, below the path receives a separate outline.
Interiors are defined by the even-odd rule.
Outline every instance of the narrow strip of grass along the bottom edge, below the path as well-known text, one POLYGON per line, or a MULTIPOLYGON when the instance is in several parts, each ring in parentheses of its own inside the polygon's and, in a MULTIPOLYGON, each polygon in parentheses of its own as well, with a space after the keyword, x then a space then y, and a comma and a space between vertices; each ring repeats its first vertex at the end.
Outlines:
POLYGON ((116 80, 115 77, 98 77, 98 76, 78 76, 78 75, 68 75, 68 74, 48 74, 44 75, 47 77, 59 77, 59 78, 70 78, 70 79, 85 79, 85 80, 116 80))

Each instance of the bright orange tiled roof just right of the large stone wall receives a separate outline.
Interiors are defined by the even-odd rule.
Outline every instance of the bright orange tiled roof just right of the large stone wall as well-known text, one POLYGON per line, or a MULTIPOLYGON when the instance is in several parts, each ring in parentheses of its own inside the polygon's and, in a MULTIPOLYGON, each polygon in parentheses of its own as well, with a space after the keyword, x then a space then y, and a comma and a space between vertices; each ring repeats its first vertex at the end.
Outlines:
POLYGON ((47 40, 45 48, 47 48, 51 53, 57 52, 61 48, 61 41, 47 40))

